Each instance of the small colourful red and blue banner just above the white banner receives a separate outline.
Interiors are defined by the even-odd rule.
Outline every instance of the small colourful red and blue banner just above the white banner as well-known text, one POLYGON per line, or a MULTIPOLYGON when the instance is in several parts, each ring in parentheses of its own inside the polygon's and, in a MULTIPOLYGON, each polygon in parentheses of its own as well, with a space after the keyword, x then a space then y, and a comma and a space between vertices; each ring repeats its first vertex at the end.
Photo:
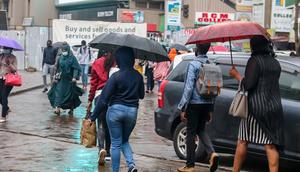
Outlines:
POLYGON ((120 14, 121 22, 124 23, 143 23, 144 12, 143 11, 122 11, 120 14))

